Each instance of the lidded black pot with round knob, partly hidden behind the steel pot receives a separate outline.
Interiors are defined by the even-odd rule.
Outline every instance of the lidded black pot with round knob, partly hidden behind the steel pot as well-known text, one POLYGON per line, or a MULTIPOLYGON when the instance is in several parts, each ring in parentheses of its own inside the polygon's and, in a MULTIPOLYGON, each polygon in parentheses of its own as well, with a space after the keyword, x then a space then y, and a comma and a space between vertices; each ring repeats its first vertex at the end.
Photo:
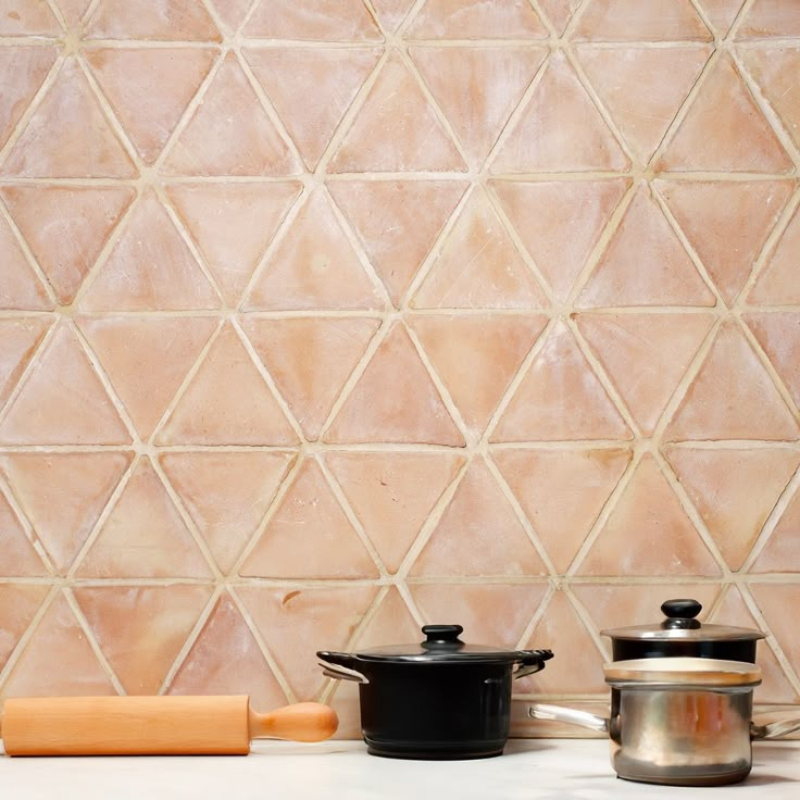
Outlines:
POLYGON ((702 624, 697 600, 667 600, 661 605, 666 618, 655 625, 601 630, 611 637, 614 661, 696 657, 755 663, 755 643, 764 635, 752 628, 702 624))

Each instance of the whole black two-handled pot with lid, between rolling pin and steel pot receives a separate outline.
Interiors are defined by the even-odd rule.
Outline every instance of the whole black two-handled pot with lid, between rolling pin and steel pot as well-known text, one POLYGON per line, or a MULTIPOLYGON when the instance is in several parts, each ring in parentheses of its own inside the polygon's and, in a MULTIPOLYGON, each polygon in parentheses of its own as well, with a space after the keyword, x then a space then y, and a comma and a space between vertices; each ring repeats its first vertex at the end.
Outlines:
POLYGON ((549 650, 465 645, 461 625, 425 625, 425 641, 355 653, 318 651, 328 677, 359 684, 373 755, 480 759, 509 738, 511 686, 545 667, 549 650))

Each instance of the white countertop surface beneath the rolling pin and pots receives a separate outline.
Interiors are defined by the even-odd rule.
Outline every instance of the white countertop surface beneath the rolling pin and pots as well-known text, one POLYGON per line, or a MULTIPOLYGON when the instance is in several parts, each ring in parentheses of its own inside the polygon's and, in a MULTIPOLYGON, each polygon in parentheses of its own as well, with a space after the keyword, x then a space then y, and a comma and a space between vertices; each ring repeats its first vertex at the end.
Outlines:
POLYGON ((360 741, 257 741, 248 757, 0 758, 0 787, 25 800, 771 800, 800 797, 800 741, 757 742, 750 777, 714 788, 620 780, 598 739, 513 739, 500 758, 449 762, 380 759, 360 741))

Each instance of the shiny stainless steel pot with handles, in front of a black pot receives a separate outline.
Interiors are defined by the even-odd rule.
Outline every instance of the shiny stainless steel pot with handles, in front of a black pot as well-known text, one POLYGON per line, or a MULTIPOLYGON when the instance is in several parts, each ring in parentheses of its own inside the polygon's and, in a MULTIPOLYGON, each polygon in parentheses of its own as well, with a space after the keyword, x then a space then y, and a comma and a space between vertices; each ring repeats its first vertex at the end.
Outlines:
POLYGON ((718 786, 743 780, 753 739, 800 729, 800 720, 754 725, 755 664, 672 658, 616 661, 604 667, 611 686, 609 718, 532 705, 530 716, 603 730, 621 778, 672 786, 718 786))

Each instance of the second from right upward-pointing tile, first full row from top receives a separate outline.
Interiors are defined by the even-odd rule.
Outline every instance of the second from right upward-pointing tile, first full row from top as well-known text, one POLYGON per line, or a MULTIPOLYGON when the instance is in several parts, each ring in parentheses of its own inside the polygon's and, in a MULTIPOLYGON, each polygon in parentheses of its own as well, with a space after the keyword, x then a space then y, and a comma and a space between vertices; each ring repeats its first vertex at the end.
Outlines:
POLYGON ((501 146, 491 171, 622 171, 629 166, 570 62, 557 53, 501 146))

